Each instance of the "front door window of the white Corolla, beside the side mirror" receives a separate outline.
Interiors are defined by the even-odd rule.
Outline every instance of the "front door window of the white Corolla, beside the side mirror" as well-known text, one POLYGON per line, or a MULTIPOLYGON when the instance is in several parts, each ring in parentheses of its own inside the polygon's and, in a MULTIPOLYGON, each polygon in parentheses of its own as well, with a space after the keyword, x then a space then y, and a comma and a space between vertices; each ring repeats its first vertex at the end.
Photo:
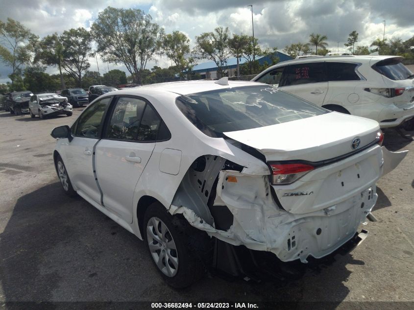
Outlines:
POLYGON ((74 135, 85 138, 98 138, 102 119, 112 97, 103 98, 90 105, 77 119, 74 135))

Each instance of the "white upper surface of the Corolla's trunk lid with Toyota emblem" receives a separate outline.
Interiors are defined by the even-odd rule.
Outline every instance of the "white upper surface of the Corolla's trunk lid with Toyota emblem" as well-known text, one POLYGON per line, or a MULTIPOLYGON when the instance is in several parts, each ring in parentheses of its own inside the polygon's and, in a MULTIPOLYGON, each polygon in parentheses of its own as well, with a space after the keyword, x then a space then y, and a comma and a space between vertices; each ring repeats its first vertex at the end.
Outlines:
POLYGON ((257 149, 267 161, 317 162, 351 153, 355 138, 361 140, 359 148, 372 143, 378 131, 375 120, 331 112, 224 135, 257 149))

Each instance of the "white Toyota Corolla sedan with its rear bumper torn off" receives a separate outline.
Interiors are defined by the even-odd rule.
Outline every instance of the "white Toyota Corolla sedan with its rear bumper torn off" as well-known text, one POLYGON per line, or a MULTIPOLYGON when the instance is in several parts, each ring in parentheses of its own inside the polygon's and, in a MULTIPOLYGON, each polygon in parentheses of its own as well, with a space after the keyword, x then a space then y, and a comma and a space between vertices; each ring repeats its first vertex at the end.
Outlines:
POLYGON ((144 239, 174 287, 206 262, 237 273, 234 248, 332 253, 370 218, 384 164, 377 121, 227 78, 102 95, 52 137, 64 191, 144 239))

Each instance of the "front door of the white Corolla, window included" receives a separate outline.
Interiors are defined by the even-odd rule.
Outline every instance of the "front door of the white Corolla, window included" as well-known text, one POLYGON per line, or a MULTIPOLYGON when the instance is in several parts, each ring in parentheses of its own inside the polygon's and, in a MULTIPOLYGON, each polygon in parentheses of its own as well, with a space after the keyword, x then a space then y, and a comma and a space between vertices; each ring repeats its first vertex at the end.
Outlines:
POLYGON ((63 146, 65 165, 71 182, 78 191, 100 204, 100 191, 93 167, 94 147, 99 141, 103 117, 112 97, 103 98, 89 106, 72 127, 73 140, 63 146))

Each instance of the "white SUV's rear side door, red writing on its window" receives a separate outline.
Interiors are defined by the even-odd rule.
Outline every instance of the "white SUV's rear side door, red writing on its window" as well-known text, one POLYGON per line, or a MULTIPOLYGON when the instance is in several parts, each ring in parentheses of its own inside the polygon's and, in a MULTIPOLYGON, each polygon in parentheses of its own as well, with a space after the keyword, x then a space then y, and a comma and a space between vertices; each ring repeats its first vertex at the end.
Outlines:
POLYGON ((321 106, 328 91, 324 62, 299 63, 287 66, 279 87, 293 95, 321 106))

